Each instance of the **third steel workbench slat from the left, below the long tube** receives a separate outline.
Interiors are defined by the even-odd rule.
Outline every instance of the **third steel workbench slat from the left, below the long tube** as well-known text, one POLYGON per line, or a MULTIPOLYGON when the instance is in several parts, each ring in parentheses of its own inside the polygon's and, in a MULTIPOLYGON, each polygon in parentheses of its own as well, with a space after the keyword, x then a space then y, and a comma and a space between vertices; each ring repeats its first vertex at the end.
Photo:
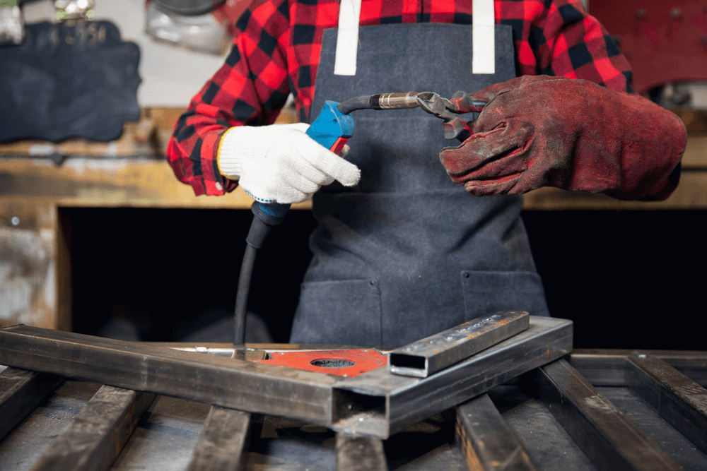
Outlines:
POLYGON ((214 405, 201 429, 201 437, 187 471, 238 471, 245 469, 250 444, 250 414, 214 405))

